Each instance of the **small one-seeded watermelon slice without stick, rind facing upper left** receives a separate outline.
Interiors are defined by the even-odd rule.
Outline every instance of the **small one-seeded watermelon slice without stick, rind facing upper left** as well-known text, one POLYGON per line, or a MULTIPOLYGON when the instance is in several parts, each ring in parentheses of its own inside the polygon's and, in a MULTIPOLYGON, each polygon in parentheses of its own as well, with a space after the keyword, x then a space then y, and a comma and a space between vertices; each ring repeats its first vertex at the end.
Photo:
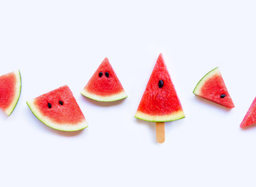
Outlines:
POLYGON ((200 79, 193 90, 193 94, 217 104, 221 104, 226 108, 235 107, 218 67, 212 69, 211 72, 208 72, 202 79, 200 79))

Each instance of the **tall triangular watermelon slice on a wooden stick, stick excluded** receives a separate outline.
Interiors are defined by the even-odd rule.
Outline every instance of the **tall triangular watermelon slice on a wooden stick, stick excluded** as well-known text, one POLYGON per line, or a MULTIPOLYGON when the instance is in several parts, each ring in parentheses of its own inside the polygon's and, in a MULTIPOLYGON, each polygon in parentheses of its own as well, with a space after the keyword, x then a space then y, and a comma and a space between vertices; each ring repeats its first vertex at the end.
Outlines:
POLYGON ((160 54, 135 118, 150 122, 169 122, 184 117, 175 86, 171 82, 163 56, 160 54))

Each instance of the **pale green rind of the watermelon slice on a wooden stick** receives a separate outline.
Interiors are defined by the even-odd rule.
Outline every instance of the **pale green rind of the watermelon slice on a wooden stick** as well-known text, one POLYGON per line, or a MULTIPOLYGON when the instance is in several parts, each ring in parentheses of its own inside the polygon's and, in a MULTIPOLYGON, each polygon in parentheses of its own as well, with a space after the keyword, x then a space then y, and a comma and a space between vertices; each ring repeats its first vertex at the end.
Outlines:
POLYGON ((142 111, 137 111, 135 114, 135 118, 139 118, 147 122, 172 122, 178 119, 185 118, 185 114, 182 110, 175 111, 170 115, 148 115, 146 113, 143 113, 142 111))

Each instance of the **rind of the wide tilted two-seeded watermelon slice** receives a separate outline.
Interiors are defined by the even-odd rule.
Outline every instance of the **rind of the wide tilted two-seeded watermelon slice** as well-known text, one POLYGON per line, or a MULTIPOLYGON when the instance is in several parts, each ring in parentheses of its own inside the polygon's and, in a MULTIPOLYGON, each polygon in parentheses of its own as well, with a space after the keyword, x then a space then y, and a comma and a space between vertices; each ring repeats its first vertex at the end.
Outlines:
POLYGON ((81 129, 85 129, 88 127, 86 121, 80 122, 78 124, 61 124, 61 125, 57 124, 56 122, 51 122, 49 118, 44 117, 43 115, 41 115, 41 112, 38 111, 38 108, 34 104, 34 99, 31 101, 27 101, 27 106, 31 109, 32 113, 36 118, 38 118, 39 121, 51 127, 52 129, 66 131, 66 132, 74 132, 74 131, 79 131, 81 129))

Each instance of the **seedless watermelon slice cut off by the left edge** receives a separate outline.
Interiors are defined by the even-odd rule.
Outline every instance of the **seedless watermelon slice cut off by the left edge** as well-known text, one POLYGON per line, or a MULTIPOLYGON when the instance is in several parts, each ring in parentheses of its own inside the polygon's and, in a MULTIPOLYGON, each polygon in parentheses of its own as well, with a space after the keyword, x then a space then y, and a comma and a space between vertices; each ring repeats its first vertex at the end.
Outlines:
POLYGON ((0 108, 11 115, 20 98, 20 70, 0 76, 0 108))

